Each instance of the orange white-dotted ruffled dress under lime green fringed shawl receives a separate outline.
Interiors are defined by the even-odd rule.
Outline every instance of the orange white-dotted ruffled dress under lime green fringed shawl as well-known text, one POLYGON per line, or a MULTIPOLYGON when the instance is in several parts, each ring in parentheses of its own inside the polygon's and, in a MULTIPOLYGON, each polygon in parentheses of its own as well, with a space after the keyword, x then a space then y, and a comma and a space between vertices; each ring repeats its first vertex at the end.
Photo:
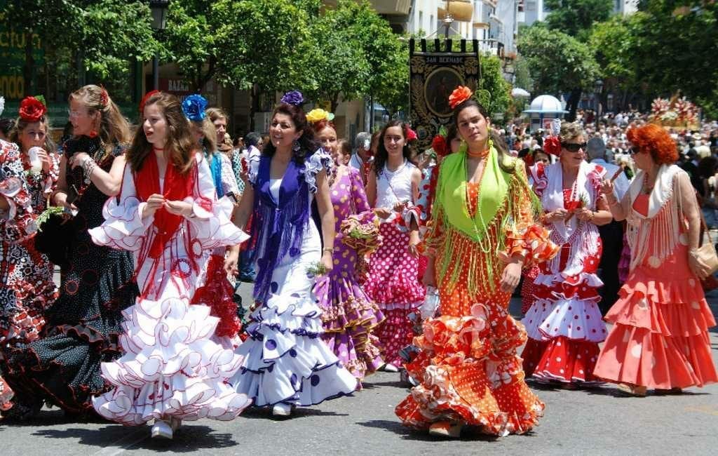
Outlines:
MULTIPOLYGON (((478 190, 477 185, 467 187, 470 214, 475 213, 478 190)), ((505 236, 503 253, 521 254, 530 265, 551 259, 557 247, 544 228, 533 225, 530 199, 523 190, 523 185, 510 187, 507 202, 486 235, 494 246, 505 236), (514 208, 510 214, 509 198, 514 208), (523 228, 503 231, 507 215, 523 228)), ((424 334, 414 338, 421 352, 405 367, 422 381, 398 404, 396 414, 416 429, 451 421, 479 427, 486 434, 523 434, 543 416, 544 403, 524 381, 516 350, 526 341, 526 331, 508 314, 510 293, 500 291, 504 264, 496 261, 488 266, 481 257, 494 252, 482 253, 477 243, 441 220, 436 219, 427 243, 436 246, 437 259, 452 252, 458 280, 450 280, 451 274, 437 278, 442 316, 424 322, 424 334), (493 287, 470 287, 470 276, 491 277, 493 287)), ((505 258, 503 253, 500 256, 505 258)))

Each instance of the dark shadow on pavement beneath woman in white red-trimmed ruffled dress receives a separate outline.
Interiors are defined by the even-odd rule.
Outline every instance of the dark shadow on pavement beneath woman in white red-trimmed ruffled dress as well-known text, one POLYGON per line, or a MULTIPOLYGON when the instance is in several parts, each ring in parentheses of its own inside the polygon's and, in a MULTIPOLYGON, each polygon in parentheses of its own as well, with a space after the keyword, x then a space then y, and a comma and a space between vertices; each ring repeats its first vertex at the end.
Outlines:
POLYGON ((108 445, 122 445, 126 437, 135 437, 131 435, 134 432, 137 438, 127 442, 128 445, 123 445, 123 448, 132 447, 156 452, 184 453, 238 445, 232 434, 218 433, 207 426, 182 426, 175 432, 172 440, 151 439, 149 426, 144 428, 129 428, 113 424, 101 429, 39 429, 33 435, 49 439, 78 439, 79 445, 108 447, 108 445))

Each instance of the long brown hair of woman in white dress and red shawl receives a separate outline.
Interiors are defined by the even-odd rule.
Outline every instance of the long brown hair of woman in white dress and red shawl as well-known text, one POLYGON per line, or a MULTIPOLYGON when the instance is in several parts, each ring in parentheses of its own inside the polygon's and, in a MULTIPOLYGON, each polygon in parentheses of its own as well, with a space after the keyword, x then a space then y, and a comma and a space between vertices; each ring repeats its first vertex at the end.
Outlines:
MULTIPOLYGON (((158 92, 144 104, 152 106, 157 104, 162 109, 162 115, 167 124, 167 142, 164 145, 167 156, 182 175, 192 169, 194 164, 195 152, 199 146, 195 142, 195 137, 190 129, 190 121, 187 121, 185 113, 182 113, 182 104, 180 98, 166 92, 158 92)), ((144 118, 144 114, 143 114, 144 118)), ((214 152, 214 151, 211 151, 214 152)), ((147 141, 144 129, 140 125, 135 132, 132 145, 127 150, 125 157, 130 164, 130 168, 134 172, 138 172, 145 159, 152 153, 152 144, 147 141)))

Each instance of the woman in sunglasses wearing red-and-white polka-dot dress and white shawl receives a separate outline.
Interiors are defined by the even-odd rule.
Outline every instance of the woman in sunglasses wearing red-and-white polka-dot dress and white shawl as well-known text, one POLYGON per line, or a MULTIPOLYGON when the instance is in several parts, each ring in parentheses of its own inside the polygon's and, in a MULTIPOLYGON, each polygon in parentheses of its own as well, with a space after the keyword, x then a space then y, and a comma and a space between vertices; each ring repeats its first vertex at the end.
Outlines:
POLYGON ((559 162, 538 164, 531 173, 544 224, 561 250, 541 264, 534 280, 535 302, 523 318, 523 369, 540 381, 593 383, 598 343, 606 337, 598 308, 603 283, 596 275, 602 251, 597 225, 612 220, 599 191, 605 170, 584 160, 585 136, 577 124, 564 122, 547 142, 559 162))

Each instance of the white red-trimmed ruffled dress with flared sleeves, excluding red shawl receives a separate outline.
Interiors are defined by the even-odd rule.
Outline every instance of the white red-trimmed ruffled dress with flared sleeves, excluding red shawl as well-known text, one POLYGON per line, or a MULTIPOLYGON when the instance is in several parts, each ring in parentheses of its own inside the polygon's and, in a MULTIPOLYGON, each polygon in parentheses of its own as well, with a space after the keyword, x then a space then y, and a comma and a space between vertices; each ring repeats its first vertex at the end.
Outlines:
POLYGON ((210 307, 190 304, 204 280, 209 260, 205 251, 248 238, 228 220, 231 203, 216 199, 202 154, 196 161, 193 195, 185 198, 192 215, 182 221, 157 261, 144 255, 157 228, 154 215, 142 218, 146 203, 137 197, 129 165, 119 201, 110 198, 103 209, 105 223, 90 230, 96 244, 132 251, 138 263, 146 258, 137 264, 137 284, 145 292, 123 311, 120 345, 125 354, 101 366, 103 378, 114 388, 93 398, 98 414, 122 424, 169 418, 230 420, 251 404, 226 383, 242 357, 233 353, 230 340, 215 338, 219 320, 210 316, 210 307))

